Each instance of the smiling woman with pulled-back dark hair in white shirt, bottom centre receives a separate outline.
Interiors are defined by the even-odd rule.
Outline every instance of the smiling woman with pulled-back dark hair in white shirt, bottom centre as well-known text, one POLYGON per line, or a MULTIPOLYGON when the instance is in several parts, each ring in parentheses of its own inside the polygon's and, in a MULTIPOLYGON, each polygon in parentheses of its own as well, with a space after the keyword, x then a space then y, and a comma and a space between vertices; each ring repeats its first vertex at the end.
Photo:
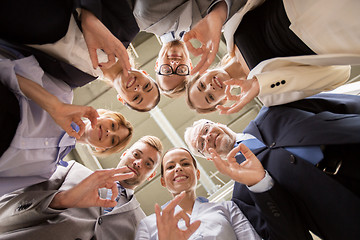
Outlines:
MULTIPOLYGON (((200 171, 190 152, 184 148, 173 148, 165 153, 161 162, 161 185, 175 198, 182 192, 182 200, 175 207, 175 219, 179 224, 173 226, 156 224, 156 215, 143 219, 135 239, 187 239, 165 237, 164 229, 172 234, 181 232, 188 224, 197 223, 198 229, 189 239, 260 239, 244 214, 231 201, 210 203, 204 197, 196 196, 200 171), (179 220, 182 218, 181 220, 179 220), (158 232, 158 229, 159 232, 158 232), (181 230, 180 230, 181 229, 181 230)), ((169 203, 162 208, 166 208, 169 203)), ((159 212, 159 209, 156 210, 159 212)), ((168 223, 166 223, 168 224, 168 223)), ((193 228, 193 230, 196 229, 193 228)), ((173 236, 174 237, 174 236, 173 236)))

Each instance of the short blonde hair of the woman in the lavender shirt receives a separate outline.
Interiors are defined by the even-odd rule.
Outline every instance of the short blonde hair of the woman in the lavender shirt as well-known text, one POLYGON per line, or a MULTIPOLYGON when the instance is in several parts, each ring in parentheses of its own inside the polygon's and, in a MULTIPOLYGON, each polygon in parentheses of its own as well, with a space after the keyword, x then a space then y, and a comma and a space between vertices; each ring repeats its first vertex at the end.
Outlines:
POLYGON ((114 119, 118 123, 119 126, 124 126, 125 128, 127 128, 129 130, 129 134, 122 141, 119 141, 119 143, 117 145, 107 148, 103 151, 93 150, 93 153, 96 156, 103 157, 103 156, 108 156, 113 153, 120 152, 121 150, 123 150, 126 147, 126 145, 129 144, 129 142, 132 138, 133 131, 134 131, 133 126, 119 112, 114 112, 114 111, 107 110, 107 109, 97 109, 97 112, 99 113, 100 116, 109 117, 109 118, 114 119))

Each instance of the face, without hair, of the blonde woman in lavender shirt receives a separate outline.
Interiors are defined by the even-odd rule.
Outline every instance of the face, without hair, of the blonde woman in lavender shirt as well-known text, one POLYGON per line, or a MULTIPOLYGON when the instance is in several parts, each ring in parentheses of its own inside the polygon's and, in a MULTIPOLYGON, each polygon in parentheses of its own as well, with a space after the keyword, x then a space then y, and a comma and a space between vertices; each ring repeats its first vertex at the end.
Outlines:
POLYGON ((98 150, 103 151, 119 145, 129 136, 129 133, 129 129, 116 119, 100 115, 95 128, 91 127, 89 121, 86 122, 82 140, 98 150))

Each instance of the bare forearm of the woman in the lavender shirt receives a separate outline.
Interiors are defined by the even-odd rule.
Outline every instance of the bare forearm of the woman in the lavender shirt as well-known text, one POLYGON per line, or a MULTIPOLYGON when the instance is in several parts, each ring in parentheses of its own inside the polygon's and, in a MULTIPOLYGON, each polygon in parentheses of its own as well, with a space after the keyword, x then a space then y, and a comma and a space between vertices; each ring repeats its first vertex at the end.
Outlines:
POLYGON ((20 75, 16 75, 16 77, 18 79, 20 89, 25 96, 37 103, 50 115, 62 104, 56 96, 49 93, 39 84, 20 75))

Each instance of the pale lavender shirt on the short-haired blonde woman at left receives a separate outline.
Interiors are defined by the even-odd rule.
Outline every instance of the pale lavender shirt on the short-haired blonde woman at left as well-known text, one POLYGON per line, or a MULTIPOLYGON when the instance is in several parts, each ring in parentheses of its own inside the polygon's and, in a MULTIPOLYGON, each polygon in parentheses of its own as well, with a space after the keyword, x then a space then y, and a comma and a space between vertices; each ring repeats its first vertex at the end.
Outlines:
POLYGON ((64 103, 73 98, 71 88, 45 74, 33 56, 12 61, 0 55, 0 81, 15 93, 20 104, 18 128, 0 158, 0 195, 46 181, 55 172, 59 156, 75 145, 75 138, 23 94, 15 74, 38 83, 64 103))

